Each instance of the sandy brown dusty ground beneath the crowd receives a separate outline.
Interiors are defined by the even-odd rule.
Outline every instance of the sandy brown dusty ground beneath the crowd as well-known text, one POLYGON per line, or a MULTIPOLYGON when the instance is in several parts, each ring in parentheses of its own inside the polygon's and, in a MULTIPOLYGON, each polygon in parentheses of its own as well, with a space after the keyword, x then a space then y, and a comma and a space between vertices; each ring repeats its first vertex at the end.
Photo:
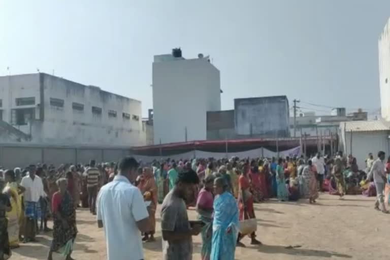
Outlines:
MULTIPOLYGON (((256 204, 258 239, 264 245, 237 248, 236 259, 388 259, 390 215, 373 209, 374 198, 321 194, 317 205, 299 203, 256 204), (288 249, 288 246, 302 246, 288 249)), ((159 212, 159 211, 158 211, 159 212)), ((191 219, 196 212, 189 210, 191 219)), ((145 260, 161 259, 161 233, 157 219, 157 242, 144 244, 145 260)), ((104 234, 88 211, 78 211, 79 235, 73 257, 77 260, 105 259, 104 234)), ((22 245, 12 259, 45 259, 49 236, 40 243, 22 245)), ((200 237, 194 238, 193 259, 200 259, 200 237)), ((55 255, 55 259, 62 259, 55 255)))

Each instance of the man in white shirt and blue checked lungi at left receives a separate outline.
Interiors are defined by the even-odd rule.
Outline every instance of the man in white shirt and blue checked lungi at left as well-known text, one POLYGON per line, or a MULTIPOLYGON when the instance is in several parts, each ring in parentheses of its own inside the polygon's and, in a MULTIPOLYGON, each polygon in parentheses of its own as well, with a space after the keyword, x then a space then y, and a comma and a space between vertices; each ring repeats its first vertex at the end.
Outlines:
POLYGON ((36 171, 36 166, 30 165, 27 176, 23 177, 20 183, 26 189, 23 195, 25 216, 23 243, 37 242, 36 221, 41 218, 42 214, 39 198, 47 196, 43 189, 42 179, 36 175, 36 171))

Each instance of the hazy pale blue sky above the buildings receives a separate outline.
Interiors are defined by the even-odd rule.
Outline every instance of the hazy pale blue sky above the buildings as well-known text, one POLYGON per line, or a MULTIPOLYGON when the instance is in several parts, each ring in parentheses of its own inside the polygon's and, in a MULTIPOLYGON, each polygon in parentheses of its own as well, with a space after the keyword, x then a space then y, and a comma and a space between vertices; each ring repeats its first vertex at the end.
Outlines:
MULTIPOLYGON (((379 109, 378 38, 388 0, 0 0, 0 75, 52 73, 152 107, 153 55, 181 47, 221 72, 235 98, 287 95, 379 109)), ((170 102, 170 101, 167 101, 170 102)), ((322 106, 324 105, 324 106, 322 106)))

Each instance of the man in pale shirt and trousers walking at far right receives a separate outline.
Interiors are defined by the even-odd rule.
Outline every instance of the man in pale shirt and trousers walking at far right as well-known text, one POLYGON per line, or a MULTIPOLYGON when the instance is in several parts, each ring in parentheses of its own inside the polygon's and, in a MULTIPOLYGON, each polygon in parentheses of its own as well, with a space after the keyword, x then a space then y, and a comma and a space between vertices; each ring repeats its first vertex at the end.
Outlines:
POLYGON ((389 213, 384 206, 384 185, 386 183, 386 171, 385 165, 383 163, 385 157, 385 153, 383 151, 378 152, 378 158, 374 161, 374 164, 371 167, 371 171, 367 176, 367 182, 370 181, 371 178, 374 178, 377 200, 375 201, 375 209, 379 209, 379 204, 382 205, 382 212, 389 213))

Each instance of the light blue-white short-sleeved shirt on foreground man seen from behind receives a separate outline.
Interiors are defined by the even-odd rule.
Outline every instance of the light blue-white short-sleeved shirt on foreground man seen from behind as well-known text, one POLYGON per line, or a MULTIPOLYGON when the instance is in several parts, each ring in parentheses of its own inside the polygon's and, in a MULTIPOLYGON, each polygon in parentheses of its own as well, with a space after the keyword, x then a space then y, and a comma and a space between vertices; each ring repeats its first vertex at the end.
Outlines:
POLYGON ((149 214, 141 191, 126 177, 116 175, 100 189, 96 211, 106 233, 107 259, 143 259, 141 232, 136 222, 149 214))

